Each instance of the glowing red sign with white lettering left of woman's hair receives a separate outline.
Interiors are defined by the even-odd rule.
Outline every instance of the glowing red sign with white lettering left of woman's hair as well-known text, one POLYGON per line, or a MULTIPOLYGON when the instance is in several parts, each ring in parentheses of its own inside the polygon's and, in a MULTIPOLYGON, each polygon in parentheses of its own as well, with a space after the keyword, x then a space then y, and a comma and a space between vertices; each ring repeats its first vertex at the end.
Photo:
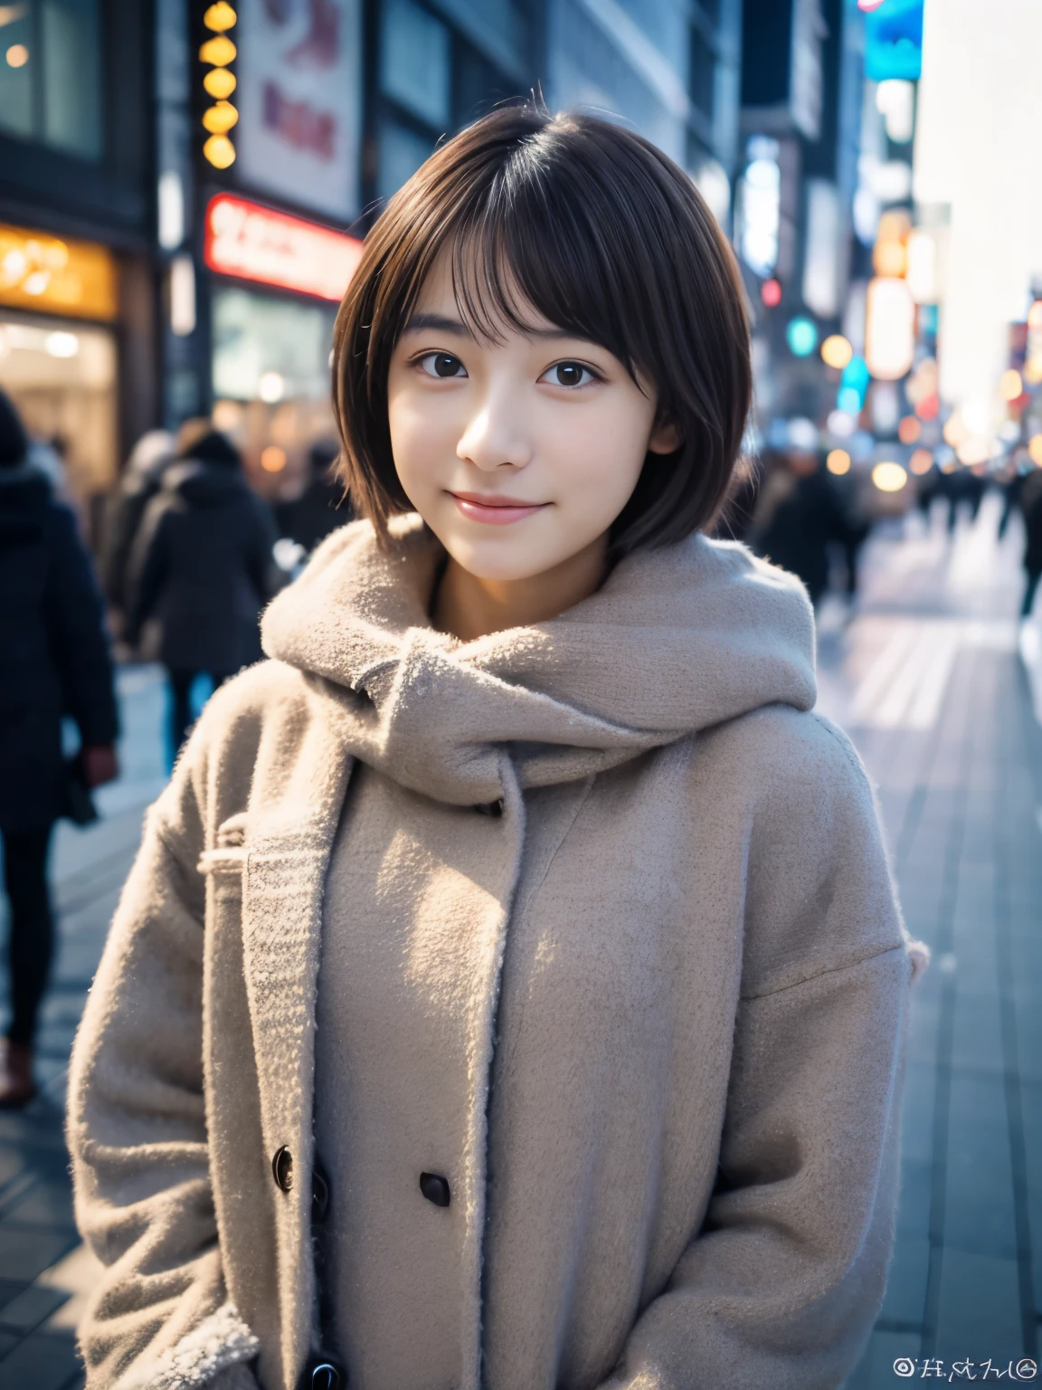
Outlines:
POLYGON ((339 300, 361 252, 354 236, 232 193, 218 193, 206 210, 203 259, 220 275, 339 300))

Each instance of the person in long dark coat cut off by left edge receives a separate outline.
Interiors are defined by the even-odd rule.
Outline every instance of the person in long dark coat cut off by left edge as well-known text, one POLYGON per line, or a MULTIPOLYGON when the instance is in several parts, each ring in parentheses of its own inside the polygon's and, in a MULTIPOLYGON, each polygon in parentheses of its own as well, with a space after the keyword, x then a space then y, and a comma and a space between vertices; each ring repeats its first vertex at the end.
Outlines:
POLYGON ((68 795, 63 716, 79 730, 81 777, 117 774, 113 663, 101 595, 76 520, 28 461, 0 392, 0 837, 10 905, 11 1019, 0 1105, 35 1094, 32 1042, 54 947, 47 855, 68 795))

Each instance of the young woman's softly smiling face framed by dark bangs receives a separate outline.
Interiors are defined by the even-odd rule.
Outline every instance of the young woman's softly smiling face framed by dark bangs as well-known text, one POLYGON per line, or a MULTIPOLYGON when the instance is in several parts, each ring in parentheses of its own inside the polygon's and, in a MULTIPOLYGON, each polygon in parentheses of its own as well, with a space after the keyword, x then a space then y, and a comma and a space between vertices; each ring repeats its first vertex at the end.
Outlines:
POLYGON ((531 310, 499 342, 463 322, 447 254, 424 285, 388 379, 402 486, 449 555, 482 580, 525 580, 604 537, 649 449, 656 396, 604 348, 531 310))

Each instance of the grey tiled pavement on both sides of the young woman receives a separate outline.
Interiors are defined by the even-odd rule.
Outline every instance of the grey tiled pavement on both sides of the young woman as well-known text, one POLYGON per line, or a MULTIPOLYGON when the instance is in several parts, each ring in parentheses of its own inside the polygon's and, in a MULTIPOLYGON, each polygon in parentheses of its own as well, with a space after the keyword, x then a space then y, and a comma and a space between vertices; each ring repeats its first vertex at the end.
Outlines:
MULTIPOLYGON (((996 545, 996 520, 986 500, 952 546, 916 518, 877 535, 856 619, 838 605, 822 613, 821 708, 878 783, 909 926, 934 949, 913 997, 898 1248, 847 1390, 898 1384, 899 1358, 907 1379, 943 1380, 1009 1380, 1010 1364, 1038 1359, 1042 731, 1017 656, 1018 535, 996 545)), ((1042 628, 1027 637, 1028 655, 1042 656, 1042 628)), ((0 1116, 3 1390, 82 1384, 72 1327, 92 1268, 69 1211, 64 1068, 163 771, 157 677, 121 680, 124 781, 106 792, 100 826, 63 827, 57 845, 63 945, 42 1038, 46 1093, 25 1115, 0 1116)), ((1042 678, 1036 695, 1042 710, 1042 678)))

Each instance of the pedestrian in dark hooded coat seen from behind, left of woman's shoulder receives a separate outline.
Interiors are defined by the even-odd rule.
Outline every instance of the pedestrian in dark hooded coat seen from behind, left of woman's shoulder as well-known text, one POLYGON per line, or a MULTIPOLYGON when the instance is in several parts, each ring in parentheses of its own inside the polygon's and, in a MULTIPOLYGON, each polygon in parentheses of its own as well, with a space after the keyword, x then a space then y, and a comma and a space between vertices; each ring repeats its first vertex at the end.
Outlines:
POLYGON ((214 687, 261 657, 258 617, 272 591, 275 523, 225 435, 210 431, 163 475, 131 562, 126 639, 160 624, 171 687, 171 742, 192 723, 196 676, 214 687))

